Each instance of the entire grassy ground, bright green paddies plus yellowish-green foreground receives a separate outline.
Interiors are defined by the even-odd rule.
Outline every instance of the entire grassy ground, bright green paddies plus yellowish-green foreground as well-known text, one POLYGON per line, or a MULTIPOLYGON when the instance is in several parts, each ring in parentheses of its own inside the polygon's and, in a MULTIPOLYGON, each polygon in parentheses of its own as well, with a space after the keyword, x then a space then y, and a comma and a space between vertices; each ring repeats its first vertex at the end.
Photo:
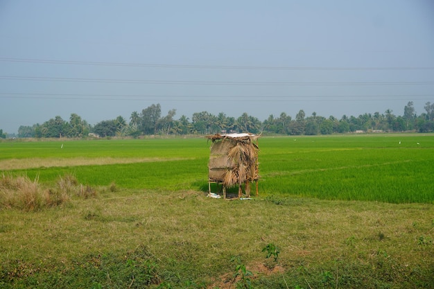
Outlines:
POLYGON ((434 135, 263 137, 250 201, 206 197, 209 146, 1 142, 8 182, 92 194, 0 207, 0 287, 434 288, 434 135))

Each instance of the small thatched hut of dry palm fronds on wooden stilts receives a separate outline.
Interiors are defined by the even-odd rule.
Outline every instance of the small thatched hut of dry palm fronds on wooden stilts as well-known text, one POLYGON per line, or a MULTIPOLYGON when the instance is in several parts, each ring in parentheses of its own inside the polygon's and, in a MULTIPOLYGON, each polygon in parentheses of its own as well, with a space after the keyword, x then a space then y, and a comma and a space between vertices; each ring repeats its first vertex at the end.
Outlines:
POLYGON ((211 183, 222 184, 223 197, 226 189, 238 186, 238 198, 243 195, 250 198, 250 184, 255 182, 258 195, 258 139, 250 133, 213 134, 207 136, 212 141, 208 164, 208 189, 211 195, 211 183))

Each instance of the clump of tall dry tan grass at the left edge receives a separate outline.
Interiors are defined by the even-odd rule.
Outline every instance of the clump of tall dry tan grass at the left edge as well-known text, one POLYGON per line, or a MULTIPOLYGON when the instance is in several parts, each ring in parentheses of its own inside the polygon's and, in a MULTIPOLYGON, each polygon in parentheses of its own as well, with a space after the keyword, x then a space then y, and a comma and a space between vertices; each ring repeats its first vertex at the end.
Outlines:
POLYGON ((21 209, 37 211, 69 202, 71 198, 91 198, 97 191, 90 186, 79 184, 76 177, 59 177, 53 188, 44 188, 39 177, 13 177, 3 173, 0 177, 0 209, 21 209))

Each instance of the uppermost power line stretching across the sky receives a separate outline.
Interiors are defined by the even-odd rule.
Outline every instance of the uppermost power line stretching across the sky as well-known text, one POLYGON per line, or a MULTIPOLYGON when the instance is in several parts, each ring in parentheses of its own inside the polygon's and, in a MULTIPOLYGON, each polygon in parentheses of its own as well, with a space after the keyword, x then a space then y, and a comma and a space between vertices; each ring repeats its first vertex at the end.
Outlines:
POLYGON ((242 70, 336 70, 336 71, 375 71, 375 70, 434 70, 434 67, 268 67, 268 66, 232 66, 232 65, 195 65, 195 64, 152 64, 138 62, 92 62, 73 60, 44 60, 32 58, 0 58, 3 62, 24 62, 40 64, 92 65, 112 67, 153 67, 174 69, 242 69, 242 70))

